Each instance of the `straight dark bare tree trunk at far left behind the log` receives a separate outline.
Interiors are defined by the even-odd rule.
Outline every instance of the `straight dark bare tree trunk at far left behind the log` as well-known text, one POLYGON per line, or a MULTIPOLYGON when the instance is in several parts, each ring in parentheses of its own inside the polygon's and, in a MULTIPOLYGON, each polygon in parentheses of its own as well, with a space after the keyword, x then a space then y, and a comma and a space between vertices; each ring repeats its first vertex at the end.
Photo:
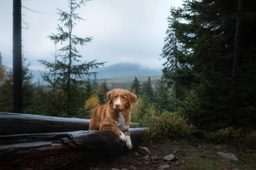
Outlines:
POLYGON ((21 0, 13 0, 13 112, 22 113, 21 0))

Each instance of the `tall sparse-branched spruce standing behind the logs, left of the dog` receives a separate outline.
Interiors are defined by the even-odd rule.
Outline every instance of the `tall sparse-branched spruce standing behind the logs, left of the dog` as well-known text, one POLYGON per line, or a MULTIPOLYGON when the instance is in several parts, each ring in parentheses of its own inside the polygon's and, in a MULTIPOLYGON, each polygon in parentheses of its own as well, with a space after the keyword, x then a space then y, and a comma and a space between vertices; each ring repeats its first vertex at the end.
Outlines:
MULTIPOLYGON (((50 75, 55 75, 57 78, 55 80, 56 87, 61 91, 62 102, 61 108, 63 110, 58 113, 59 116, 76 116, 80 112, 84 112, 84 102, 86 99, 86 90, 83 88, 84 77, 96 74, 96 72, 89 72, 90 69, 99 68, 100 65, 104 63, 97 63, 96 60, 91 62, 80 62, 79 58, 82 56, 76 49, 76 45, 86 45, 87 42, 91 42, 91 37, 79 38, 73 35, 73 28, 76 25, 76 20, 83 20, 79 17, 75 11, 84 5, 86 0, 80 0, 76 3, 76 0, 69 0, 69 12, 59 11, 60 21, 64 23, 64 27, 58 25, 57 34, 52 34, 49 36, 50 40, 53 40, 55 44, 62 42, 68 42, 67 46, 59 49, 61 52, 61 60, 57 59, 55 62, 47 62, 45 60, 39 60, 46 68, 49 69, 50 75), (65 30, 67 29, 67 31, 65 30), (76 64, 75 64, 76 63, 76 64)), ((43 79, 47 82, 52 82, 47 76, 43 76, 43 79)))

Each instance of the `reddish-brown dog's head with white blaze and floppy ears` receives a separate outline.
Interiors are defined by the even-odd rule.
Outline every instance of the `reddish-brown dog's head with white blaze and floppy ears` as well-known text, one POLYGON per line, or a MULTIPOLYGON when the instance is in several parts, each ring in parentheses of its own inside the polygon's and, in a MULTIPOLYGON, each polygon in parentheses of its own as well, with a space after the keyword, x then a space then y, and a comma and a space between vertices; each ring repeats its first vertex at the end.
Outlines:
POLYGON ((137 96, 130 91, 115 88, 107 93, 108 105, 115 110, 123 110, 124 108, 130 108, 137 96))

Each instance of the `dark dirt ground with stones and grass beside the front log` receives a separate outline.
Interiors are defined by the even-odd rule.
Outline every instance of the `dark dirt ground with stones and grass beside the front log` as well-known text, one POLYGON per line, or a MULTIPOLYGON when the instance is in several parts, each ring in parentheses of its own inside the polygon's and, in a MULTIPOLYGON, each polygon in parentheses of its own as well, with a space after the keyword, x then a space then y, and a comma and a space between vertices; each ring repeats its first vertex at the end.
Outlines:
MULTIPOLYGON (((157 159, 145 160, 144 155, 137 152, 122 156, 111 164, 99 164, 88 170, 155 170, 162 165, 170 165, 165 170, 256 170, 256 155, 238 153, 234 149, 212 144, 187 144, 180 141, 166 141, 148 146, 151 156, 157 159), (239 161, 224 159, 216 152, 234 153, 239 161), (164 156, 174 154, 175 161, 164 161, 164 156)), ((86 168, 87 169, 87 168, 86 168)))

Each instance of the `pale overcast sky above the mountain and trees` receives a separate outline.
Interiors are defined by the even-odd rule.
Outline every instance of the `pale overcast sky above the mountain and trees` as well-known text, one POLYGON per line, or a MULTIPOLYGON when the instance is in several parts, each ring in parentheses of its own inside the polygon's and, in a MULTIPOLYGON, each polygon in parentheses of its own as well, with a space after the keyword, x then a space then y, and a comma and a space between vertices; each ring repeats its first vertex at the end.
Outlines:
MULTIPOLYGON (((79 1, 79 0, 77 0, 79 1)), ((84 47, 77 47, 81 61, 135 62, 144 67, 162 68, 159 60, 171 6, 181 6, 182 0, 92 0, 76 13, 86 21, 74 28, 78 37, 93 37, 84 47)), ((49 54, 55 45, 47 38, 55 29, 59 16, 57 8, 67 11, 68 0, 22 0, 22 19, 29 29, 22 29, 22 45, 33 70, 43 70, 37 59, 52 60, 49 54)), ((3 64, 12 66, 12 0, 0 0, 0 51, 3 64)), ((23 27, 26 25, 23 24, 23 27)), ((61 47, 61 46, 57 46, 61 47)))

